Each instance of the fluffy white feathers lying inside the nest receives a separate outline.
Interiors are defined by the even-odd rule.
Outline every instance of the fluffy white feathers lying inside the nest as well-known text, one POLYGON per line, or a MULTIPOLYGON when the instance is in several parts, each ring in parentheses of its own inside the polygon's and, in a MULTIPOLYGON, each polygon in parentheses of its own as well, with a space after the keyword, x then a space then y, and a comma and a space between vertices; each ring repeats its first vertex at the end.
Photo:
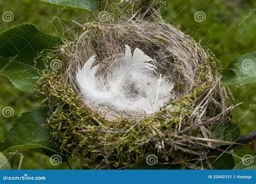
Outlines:
POLYGON ((99 65, 92 67, 95 58, 93 55, 76 74, 84 101, 91 108, 105 105, 118 111, 152 114, 173 97, 173 83, 157 75, 156 67, 149 63, 153 59, 139 48, 132 55, 125 45, 124 58, 104 82, 102 76, 96 76, 99 65))

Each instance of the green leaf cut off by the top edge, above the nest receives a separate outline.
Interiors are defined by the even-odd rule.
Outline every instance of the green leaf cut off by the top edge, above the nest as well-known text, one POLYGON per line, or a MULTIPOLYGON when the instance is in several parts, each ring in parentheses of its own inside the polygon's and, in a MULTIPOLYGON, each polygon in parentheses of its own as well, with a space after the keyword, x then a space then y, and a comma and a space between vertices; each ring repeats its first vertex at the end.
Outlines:
POLYGON ((41 0, 53 8, 82 9, 90 12, 98 9, 98 0, 41 0))

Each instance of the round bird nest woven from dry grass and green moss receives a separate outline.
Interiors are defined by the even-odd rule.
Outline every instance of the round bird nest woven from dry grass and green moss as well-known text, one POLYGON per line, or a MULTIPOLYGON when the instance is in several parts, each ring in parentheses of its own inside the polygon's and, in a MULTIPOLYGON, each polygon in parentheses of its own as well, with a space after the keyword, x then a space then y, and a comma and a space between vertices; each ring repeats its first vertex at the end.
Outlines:
MULTIPOLYGON (((187 160, 214 147, 213 143, 221 143, 212 132, 217 124, 231 123, 230 108, 220 86, 218 61, 210 51, 158 19, 81 26, 57 53, 45 57, 50 65, 57 60, 62 67, 49 67, 38 83, 37 94, 49 109, 51 141, 60 151, 84 168, 133 168, 149 164, 148 155, 154 155, 158 164, 189 167, 192 164, 187 160), (89 69, 95 67, 91 83, 96 87, 92 88, 98 90, 95 93, 101 90, 100 95, 108 94, 110 77, 125 62, 129 48, 130 55, 136 55, 136 49, 144 54, 147 60, 142 65, 149 67, 144 72, 155 80, 152 84, 157 92, 146 105, 149 111, 138 109, 139 105, 120 108, 118 100, 115 104, 93 101, 83 80, 79 82, 79 71, 93 59, 89 69), (167 88, 162 88, 160 80, 167 88), (98 87, 99 82, 105 91, 98 87)), ((85 75, 86 71, 88 66, 85 75)), ((145 91, 140 94, 142 88, 131 82, 132 77, 123 82, 129 85, 125 89, 129 97, 125 97, 137 101, 145 97, 145 91)))

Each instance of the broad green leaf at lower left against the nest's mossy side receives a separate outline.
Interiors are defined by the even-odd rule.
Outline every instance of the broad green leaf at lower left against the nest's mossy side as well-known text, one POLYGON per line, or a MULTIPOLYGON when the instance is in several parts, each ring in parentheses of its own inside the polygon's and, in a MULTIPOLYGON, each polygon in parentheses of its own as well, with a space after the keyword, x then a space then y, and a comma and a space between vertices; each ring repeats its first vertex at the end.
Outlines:
POLYGON ((43 126, 46 121, 45 109, 25 112, 16 120, 6 139, 2 143, 2 151, 25 151, 32 148, 50 148, 50 134, 43 126))

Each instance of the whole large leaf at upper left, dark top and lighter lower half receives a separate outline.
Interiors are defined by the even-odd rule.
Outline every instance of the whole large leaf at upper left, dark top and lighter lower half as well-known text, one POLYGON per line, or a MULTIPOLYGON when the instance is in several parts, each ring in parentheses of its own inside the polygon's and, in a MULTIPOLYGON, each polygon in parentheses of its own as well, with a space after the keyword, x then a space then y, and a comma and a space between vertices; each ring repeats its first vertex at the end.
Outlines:
POLYGON ((0 75, 7 76, 21 90, 35 89, 43 61, 35 58, 45 49, 59 45, 61 39, 22 24, 0 34, 0 75))

